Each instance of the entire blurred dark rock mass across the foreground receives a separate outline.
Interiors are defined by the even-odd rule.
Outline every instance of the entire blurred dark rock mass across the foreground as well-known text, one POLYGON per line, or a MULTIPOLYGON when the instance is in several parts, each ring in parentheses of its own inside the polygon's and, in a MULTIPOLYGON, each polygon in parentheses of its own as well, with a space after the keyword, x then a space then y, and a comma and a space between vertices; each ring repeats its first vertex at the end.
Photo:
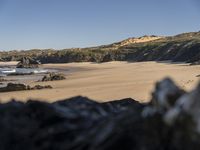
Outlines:
POLYGON ((0 104, 0 149, 199 150, 199 95, 200 86, 186 93, 165 79, 148 104, 11 101, 0 104))

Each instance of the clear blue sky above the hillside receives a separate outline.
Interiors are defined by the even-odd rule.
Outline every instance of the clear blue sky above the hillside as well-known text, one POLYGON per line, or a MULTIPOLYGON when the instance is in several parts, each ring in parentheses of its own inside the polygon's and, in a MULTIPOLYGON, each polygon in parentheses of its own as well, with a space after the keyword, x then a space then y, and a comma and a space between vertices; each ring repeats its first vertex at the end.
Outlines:
POLYGON ((88 47, 199 30, 199 0, 0 0, 0 50, 88 47))

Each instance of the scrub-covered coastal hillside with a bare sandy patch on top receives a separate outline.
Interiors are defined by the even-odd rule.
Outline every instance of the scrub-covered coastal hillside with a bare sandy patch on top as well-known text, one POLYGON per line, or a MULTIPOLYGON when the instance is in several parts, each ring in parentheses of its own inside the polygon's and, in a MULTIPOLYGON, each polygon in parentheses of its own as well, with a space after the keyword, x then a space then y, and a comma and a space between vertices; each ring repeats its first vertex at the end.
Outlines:
POLYGON ((170 37, 143 36, 90 48, 0 52, 3 61, 29 56, 42 63, 107 62, 107 61, 181 61, 200 60, 200 32, 170 37))

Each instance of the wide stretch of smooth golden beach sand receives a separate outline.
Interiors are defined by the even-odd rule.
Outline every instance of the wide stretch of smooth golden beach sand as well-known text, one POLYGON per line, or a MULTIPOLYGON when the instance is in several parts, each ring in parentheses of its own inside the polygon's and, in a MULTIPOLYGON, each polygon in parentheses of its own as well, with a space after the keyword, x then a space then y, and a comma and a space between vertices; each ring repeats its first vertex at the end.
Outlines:
POLYGON ((186 90, 197 85, 200 66, 157 62, 109 62, 46 64, 44 68, 57 68, 66 73, 66 80, 44 83, 53 89, 0 93, 2 102, 11 98, 26 101, 28 98, 53 102, 81 95, 97 101, 110 101, 131 97, 146 102, 151 97, 154 84, 171 77, 186 90))

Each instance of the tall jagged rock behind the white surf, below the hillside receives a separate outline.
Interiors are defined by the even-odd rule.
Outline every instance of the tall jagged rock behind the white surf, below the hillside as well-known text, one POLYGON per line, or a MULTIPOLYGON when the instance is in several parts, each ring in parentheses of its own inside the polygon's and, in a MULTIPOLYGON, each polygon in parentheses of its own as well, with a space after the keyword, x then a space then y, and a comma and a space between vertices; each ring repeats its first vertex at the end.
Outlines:
POLYGON ((38 68, 40 62, 30 57, 23 57, 17 64, 17 68, 38 68))

